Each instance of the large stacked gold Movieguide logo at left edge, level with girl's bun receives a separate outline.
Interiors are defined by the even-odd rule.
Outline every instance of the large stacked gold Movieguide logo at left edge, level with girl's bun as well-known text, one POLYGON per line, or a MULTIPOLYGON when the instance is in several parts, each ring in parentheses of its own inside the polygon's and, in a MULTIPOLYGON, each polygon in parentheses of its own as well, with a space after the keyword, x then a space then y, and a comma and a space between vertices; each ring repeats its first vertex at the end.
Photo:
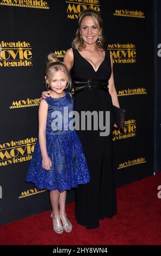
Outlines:
POLYGON ((29 42, 0 43, 0 67, 32 66, 32 47, 29 42))

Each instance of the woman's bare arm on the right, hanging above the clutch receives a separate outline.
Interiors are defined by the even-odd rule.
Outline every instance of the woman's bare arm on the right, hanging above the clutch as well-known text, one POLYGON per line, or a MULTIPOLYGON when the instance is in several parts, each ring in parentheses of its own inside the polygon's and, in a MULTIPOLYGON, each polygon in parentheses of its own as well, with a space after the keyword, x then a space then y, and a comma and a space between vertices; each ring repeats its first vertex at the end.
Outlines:
POLYGON ((112 75, 110 76, 110 79, 108 81, 108 88, 109 88, 109 93, 112 96, 112 102, 113 105, 116 107, 120 107, 119 105, 119 100, 117 97, 117 92, 115 88, 115 83, 114 83, 114 74, 113 74, 113 56, 110 54, 110 61, 111 61, 111 66, 112 66, 112 75))

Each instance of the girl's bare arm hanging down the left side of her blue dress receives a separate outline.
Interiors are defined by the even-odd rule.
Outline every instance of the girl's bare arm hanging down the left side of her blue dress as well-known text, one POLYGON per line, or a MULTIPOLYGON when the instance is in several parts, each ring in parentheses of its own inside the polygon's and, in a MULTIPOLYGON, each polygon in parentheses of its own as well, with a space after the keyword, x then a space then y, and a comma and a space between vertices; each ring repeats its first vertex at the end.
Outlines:
POLYGON ((42 155, 42 167, 46 170, 51 168, 51 160, 46 149, 46 122, 47 122, 47 102, 43 99, 39 105, 39 144, 42 155))

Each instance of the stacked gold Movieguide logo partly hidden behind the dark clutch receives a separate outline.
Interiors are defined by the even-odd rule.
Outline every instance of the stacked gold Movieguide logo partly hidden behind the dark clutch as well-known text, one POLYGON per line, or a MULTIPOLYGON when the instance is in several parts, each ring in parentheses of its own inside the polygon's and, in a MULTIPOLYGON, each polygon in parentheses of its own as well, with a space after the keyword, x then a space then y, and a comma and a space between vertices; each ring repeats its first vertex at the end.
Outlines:
POLYGON ((115 129, 113 131, 113 141, 117 141, 119 139, 127 139, 137 136, 137 122, 135 119, 129 119, 124 122, 124 129, 115 129))

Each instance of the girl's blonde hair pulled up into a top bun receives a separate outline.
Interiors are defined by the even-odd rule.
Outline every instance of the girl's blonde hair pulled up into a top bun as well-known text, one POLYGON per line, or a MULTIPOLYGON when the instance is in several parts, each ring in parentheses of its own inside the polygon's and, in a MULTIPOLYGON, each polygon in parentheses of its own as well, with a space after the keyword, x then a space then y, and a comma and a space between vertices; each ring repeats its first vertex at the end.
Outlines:
POLYGON ((53 76, 55 72, 57 72, 58 70, 64 72, 67 80, 67 87, 71 89, 71 78, 66 65, 63 62, 60 62, 53 52, 48 54, 47 59, 48 60, 46 63, 46 89, 49 89, 49 83, 52 82, 53 76))

